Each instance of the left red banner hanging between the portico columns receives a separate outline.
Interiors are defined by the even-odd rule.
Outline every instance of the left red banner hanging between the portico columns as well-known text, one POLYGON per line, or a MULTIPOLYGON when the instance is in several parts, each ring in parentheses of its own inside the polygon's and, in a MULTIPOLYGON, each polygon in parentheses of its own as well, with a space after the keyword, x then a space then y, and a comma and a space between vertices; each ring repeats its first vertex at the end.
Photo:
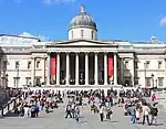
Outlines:
POLYGON ((51 56, 51 76, 56 75, 56 56, 52 55, 51 56))

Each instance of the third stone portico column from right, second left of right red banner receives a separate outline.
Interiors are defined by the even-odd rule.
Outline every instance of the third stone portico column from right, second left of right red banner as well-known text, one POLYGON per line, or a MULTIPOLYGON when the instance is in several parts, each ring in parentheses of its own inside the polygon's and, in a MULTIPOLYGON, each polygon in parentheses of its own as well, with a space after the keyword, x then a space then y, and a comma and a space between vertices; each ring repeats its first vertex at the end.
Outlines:
POLYGON ((94 80, 95 80, 95 85, 98 85, 98 57, 97 57, 97 53, 95 53, 94 60, 95 60, 94 80))

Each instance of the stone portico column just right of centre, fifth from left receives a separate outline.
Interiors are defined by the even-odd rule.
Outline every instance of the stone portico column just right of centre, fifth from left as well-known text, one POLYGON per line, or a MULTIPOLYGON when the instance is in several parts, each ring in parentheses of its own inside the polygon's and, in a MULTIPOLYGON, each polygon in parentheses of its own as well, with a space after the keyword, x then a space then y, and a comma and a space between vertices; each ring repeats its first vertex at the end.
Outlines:
POLYGON ((85 85, 89 86, 89 53, 85 53, 85 85))

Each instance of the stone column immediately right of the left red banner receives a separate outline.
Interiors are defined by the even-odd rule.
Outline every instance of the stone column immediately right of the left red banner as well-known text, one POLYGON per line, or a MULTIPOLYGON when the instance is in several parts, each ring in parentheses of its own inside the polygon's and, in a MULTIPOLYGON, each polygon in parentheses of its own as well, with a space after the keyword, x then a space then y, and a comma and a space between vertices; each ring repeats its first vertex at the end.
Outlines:
POLYGON ((60 53, 56 53, 56 85, 60 86, 60 53))

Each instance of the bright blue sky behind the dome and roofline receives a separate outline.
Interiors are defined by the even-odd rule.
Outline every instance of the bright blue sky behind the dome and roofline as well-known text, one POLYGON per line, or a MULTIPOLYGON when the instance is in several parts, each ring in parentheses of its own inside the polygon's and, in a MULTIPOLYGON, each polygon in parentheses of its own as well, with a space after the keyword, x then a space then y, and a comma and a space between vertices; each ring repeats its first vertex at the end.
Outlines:
POLYGON ((94 18, 100 40, 166 42, 166 0, 0 0, 0 33, 23 32, 66 40, 81 4, 94 18))

